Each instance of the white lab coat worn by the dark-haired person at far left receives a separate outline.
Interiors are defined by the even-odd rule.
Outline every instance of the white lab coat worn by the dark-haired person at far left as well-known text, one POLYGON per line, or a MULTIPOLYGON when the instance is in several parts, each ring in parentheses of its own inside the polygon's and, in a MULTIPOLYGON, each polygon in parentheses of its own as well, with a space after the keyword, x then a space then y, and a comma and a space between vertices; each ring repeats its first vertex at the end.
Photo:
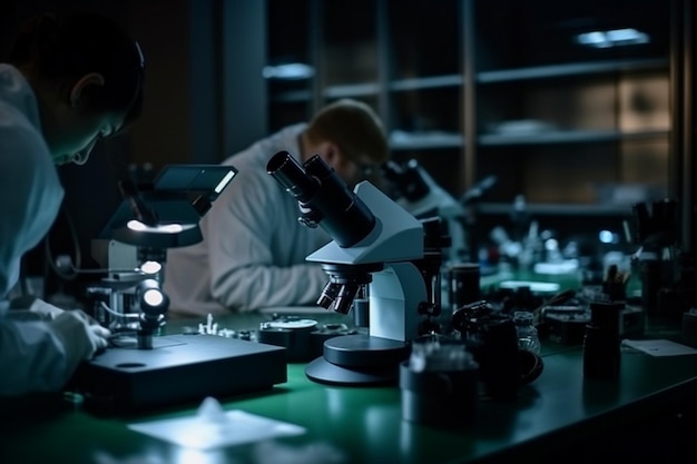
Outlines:
POLYGON ((76 367, 46 322, 8 310, 6 299, 22 255, 48 233, 62 198, 36 96, 16 68, 0 63, 0 395, 58 391, 76 367))

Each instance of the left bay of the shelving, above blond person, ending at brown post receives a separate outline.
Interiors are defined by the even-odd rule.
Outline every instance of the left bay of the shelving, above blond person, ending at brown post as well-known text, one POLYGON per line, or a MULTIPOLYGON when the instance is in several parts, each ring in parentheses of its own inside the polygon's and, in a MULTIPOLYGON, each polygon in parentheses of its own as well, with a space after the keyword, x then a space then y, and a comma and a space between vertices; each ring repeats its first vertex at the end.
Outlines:
POLYGON ((416 158, 453 195, 464 191, 461 1, 267 4, 272 31, 298 11, 304 18, 291 19, 294 43, 272 37, 271 61, 297 59, 315 71, 295 82, 269 80, 271 130, 306 120, 330 101, 355 98, 381 115, 395 159, 416 158))

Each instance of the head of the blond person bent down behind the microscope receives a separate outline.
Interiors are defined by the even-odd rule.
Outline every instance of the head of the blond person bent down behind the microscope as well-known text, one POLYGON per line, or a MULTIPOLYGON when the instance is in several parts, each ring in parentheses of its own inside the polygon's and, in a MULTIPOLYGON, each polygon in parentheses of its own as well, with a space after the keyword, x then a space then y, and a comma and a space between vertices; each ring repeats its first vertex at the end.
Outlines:
POLYGON ((320 110, 303 139, 303 155, 320 155, 350 186, 370 177, 390 157, 382 121, 369 105, 352 99, 320 110))

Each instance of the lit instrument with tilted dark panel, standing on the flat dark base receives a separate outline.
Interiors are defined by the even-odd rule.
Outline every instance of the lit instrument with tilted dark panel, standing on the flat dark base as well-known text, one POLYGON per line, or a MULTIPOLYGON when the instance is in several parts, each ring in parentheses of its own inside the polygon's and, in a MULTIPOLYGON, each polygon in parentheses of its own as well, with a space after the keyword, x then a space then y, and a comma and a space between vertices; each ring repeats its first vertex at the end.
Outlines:
POLYGON ((167 249, 203 240, 198 223, 236 174, 232 166, 169 165, 148 189, 119 180, 122 201, 92 240, 92 256, 107 269, 87 290, 97 320, 117 336, 135 332, 138 347, 150 347, 166 323, 167 249))

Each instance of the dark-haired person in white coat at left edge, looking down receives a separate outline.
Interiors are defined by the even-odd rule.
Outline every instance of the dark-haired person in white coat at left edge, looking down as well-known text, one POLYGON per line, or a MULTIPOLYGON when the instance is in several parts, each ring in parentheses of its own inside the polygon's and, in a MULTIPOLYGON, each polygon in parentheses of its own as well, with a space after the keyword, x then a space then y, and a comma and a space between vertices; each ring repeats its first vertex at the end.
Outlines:
POLYGON ((143 78, 137 42, 91 13, 40 14, 0 63, 0 396, 59 392, 107 346, 109 330, 84 312, 10 297, 22 256, 59 211, 56 165, 87 162, 132 122, 143 78))

